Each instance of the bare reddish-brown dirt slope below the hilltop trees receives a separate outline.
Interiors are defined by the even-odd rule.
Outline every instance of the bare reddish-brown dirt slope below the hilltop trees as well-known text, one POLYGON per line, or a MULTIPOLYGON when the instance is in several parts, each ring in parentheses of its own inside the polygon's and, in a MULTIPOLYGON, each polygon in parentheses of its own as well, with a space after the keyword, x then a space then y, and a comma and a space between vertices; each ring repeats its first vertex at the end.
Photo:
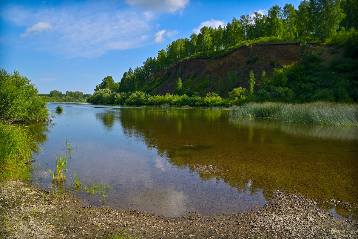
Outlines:
MULTIPOLYGON (((318 44, 309 44, 309 46, 314 49, 318 44)), ((333 48, 333 46, 328 45, 323 47, 325 49, 333 48)), ((296 62, 299 49, 299 43, 252 45, 252 47, 240 47, 225 56, 215 59, 186 59, 169 67, 170 75, 168 80, 162 83, 155 93, 158 95, 165 95, 167 92, 174 93, 175 81, 180 77, 178 70, 181 67, 181 78, 185 89, 190 87, 194 91, 199 91, 201 95, 208 91, 216 91, 220 92, 222 96, 226 96, 228 91, 226 82, 228 71, 232 75, 236 72, 238 76, 238 80, 233 81, 232 88, 241 86, 248 89, 247 79, 251 70, 256 76, 256 82, 260 85, 262 71, 266 72, 266 76, 271 77, 275 67, 282 67, 296 62), (247 63, 246 60, 252 57, 256 57, 259 60, 247 63), (196 73, 195 78, 192 76, 194 72, 196 73), (207 87, 207 83, 205 83, 208 75, 210 87, 207 87), (190 76, 193 79, 188 81, 190 76)), ((325 54, 323 57, 329 57, 329 54, 325 54)), ((161 70, 151 77, 164 77, 164 73, 165 70, 161 70)), ((259 86, 256 86, 255 90, 258 89, 259 86)))

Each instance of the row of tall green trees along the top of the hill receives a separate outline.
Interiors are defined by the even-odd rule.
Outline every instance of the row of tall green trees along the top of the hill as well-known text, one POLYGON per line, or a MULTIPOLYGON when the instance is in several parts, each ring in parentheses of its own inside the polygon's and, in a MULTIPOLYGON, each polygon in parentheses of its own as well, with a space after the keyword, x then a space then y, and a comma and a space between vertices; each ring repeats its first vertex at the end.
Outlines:
POLYGON ((288 40, 299 42, 344 43, 342 36, 348 32, 357 34, 358 4, 355 0, 309 0, 301 1, 298 10, 292 4, 283 8, 274 5, 267 14, 235 17, 225 26, 204 26, 199 34, 176 39, 156 57, 148 57, 142 66, 129 68, 120 83, 111 87, 103 84, 95 90, 112 89, 129 92, 140 89, 154 73, 183 61, 188 57, 214 56, 255 40, 288 40))

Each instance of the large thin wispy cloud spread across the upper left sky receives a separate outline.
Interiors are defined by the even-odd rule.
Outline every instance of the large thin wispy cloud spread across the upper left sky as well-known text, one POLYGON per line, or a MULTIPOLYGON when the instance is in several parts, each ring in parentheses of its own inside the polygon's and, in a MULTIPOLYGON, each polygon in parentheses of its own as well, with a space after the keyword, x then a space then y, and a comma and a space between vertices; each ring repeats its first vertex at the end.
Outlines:
POLYGON ((36 11, 8 5, 1 10, 1 18, 27 27, 19 33, 26 47, 65 57, 95 57, 112 49, 140 47, 148 35, 153 34, 151 31, 155 26, 150 12, 116 9, 120 8, 103 2, 56 8, 43 6, 36 11), (40 32, 42 34, 37 34, 40 32))

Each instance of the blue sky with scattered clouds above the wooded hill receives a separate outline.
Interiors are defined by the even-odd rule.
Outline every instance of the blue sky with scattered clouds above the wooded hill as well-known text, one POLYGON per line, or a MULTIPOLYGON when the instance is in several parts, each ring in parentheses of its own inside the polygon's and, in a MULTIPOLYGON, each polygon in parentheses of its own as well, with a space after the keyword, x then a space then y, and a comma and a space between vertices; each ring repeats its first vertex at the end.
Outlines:
POLYGON ((105 76, 119 82, 129 67, 178 38, 255 11, 298 0, 0 0, 0 67, 28 77, 39 93, 93 94, 105 76))

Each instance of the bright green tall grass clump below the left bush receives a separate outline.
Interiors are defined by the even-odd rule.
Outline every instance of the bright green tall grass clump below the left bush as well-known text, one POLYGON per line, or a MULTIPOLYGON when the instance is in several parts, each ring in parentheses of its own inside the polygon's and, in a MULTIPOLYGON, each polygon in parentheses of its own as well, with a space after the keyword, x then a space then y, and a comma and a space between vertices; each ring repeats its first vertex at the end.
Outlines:
POLYGON ((30 178, 27 163, 32 161, 32 152, 40 149, 35 142, 27 127, 0 123, 1 181, 7 178, 30 178))

